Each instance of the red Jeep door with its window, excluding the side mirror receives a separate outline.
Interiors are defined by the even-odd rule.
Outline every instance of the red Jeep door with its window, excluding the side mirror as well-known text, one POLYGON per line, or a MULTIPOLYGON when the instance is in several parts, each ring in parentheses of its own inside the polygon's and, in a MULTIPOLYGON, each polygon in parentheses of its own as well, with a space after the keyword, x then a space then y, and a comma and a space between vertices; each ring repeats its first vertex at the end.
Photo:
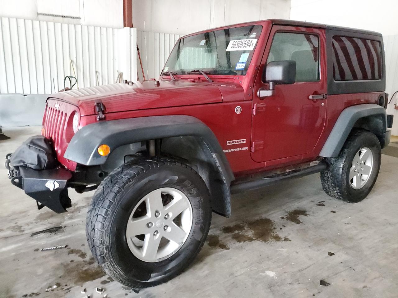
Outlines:
POLYGON ((326 89, 324 30, 273 26, 254 85, 252 159, 300 159, 310 153, 324 128, 326 89), (296 82, 275 85, 273 95, 259 98, 258 89, 269 89, 263 68, 282 60, 296 62, 296 82))

